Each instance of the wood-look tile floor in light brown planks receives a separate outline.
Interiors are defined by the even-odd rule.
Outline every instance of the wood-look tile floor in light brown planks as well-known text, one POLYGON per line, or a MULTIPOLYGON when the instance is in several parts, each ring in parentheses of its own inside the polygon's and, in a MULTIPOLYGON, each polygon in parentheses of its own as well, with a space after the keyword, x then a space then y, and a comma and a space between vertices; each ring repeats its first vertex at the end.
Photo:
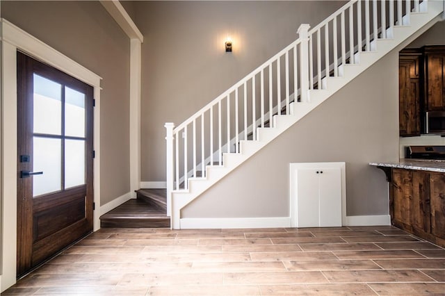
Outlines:
POLYGON ((445 249, 389 226, 100 229, 3 295, 445 295, 445 249))

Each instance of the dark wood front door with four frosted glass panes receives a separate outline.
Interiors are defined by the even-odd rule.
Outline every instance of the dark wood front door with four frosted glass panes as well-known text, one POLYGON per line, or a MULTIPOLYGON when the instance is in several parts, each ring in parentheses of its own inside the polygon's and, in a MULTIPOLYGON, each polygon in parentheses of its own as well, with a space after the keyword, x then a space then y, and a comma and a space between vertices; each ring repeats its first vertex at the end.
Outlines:
POLYGON ((92 231, 92 97, 17 52, 17 277, 92 231))

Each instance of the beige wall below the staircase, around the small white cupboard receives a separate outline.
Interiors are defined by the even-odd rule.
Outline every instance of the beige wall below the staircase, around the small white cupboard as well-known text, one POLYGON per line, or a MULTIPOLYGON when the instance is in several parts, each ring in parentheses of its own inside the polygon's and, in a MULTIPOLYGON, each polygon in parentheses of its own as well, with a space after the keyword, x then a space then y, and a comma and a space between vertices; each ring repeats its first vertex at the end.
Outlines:
POLYGON ((347 215, 388 215, 385 174, 368 163, 397 160, 398 52, 392 51, 186 206, 181 217, 287 217, 289 163, 330 161, 346 162, 347 215))

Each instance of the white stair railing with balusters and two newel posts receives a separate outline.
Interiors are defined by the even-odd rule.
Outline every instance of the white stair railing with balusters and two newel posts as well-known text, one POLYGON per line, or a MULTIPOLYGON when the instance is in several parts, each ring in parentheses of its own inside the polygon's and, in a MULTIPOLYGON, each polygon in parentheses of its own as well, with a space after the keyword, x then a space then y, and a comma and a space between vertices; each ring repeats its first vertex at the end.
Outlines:
MULTIPOLYGON (((206 177, 207 165, 223 165, 223 153, 242 153, 241 140, 256 140, 257 127, 273 127, 273 115, 291 114, 291 100, 310 103, 308 90, 327 88, 345 65, 391 39, 394 26, 407 25, 410 12, 426 11, 427 1, 352 0, 179 124, 167 123, 168 203, 188 179, 206 177), (232 145, 234 143, 234 145, 232 145)), ((296 105, 295 108, 298 108, 296 105)), ((168 204, 168 211, 170 205, 168 204)), ((170 213, 168 213, 170 214, 170 213)))

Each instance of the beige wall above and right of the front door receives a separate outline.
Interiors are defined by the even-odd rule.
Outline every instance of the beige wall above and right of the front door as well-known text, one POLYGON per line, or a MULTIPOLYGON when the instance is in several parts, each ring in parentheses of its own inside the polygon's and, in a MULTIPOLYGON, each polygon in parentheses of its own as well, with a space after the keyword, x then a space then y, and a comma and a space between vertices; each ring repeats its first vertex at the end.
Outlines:
POLYGON ((102 76, 101 204, 129 192, 129 39, 98 1, 1 1, 1 17, 102 76))

